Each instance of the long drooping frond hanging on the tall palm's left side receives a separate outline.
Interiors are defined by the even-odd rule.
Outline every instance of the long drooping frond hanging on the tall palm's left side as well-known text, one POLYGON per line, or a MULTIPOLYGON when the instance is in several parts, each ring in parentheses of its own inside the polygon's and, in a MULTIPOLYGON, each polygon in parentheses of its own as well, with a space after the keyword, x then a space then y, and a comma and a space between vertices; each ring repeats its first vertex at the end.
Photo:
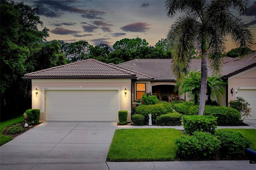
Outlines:
POLYGON ((199 24, 192 16, 180 16, 167 34, 167 42, 173 49, 172 70, 178 81, 188 74, 189 56, 194 47, 199 24))

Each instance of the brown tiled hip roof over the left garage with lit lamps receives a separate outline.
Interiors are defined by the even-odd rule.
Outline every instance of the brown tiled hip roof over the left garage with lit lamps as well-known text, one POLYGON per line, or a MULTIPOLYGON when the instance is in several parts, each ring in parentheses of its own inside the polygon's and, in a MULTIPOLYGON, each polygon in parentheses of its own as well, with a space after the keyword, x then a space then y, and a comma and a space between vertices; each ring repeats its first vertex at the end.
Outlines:
POLYGON ((95 59, 60 65, 24 75, 28 77, 136 77, 136 74, 95 59))

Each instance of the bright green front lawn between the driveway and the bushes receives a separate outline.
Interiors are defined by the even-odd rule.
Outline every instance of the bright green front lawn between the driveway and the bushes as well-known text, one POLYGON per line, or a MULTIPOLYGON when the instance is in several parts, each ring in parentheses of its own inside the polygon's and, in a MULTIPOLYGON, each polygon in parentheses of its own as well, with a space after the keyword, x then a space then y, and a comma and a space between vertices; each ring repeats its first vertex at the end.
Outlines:
POLYGON ((108 152, 108 161, 172 161, 176 156, 175 140, 182 136, 177 129, 116 130, 108 152))

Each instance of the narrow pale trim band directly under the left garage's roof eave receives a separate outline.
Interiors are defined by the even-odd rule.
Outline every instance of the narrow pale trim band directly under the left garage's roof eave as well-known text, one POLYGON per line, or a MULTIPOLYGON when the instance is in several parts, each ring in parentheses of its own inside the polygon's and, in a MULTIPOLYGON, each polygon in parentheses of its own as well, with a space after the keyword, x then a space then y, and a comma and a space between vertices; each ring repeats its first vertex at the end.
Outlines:
POLYGON ((32 82, 131 82, 131 79, 32 79, 32 82))

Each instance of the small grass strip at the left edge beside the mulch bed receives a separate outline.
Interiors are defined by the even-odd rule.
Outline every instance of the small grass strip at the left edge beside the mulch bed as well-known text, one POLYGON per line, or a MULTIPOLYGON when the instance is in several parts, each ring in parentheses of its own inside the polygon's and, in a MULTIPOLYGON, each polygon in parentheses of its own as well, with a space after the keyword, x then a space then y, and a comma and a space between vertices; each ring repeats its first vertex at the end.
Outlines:
POLYGON ((22 116, 19 116, 15 119, 10 119, 8 121, 4 121, 4 122, 1 122, 0 123, 0 146, 2 146, 3 144, 9 142, 10 140, 12 140, 13 138, 10 137, 10 136, 5 136, 5 135, 2 135, 2 131, 4 130, 4 128, 10 126, 10 125, 13 125, 15 123, 20 123, 20 122, 23 122, 24 119, 23 119, 23 115, 22 116))

